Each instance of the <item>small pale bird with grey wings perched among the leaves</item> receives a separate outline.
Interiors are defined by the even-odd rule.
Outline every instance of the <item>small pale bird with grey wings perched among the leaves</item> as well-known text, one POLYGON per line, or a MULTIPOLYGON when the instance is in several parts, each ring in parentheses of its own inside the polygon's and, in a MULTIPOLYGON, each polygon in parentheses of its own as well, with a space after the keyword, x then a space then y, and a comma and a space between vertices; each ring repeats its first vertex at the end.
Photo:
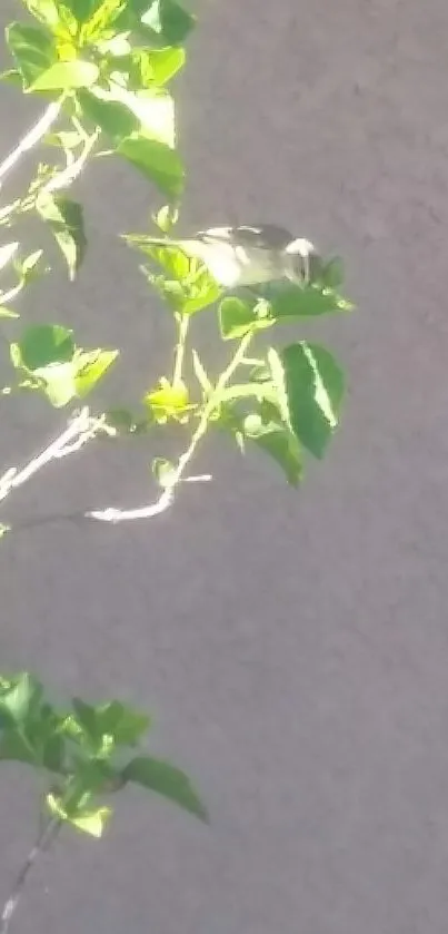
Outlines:
POLYGON ((211 227, 186 239, 132 239, 147 246, 177 247, 187 256, 201 259, 225 288, 282 278, 307 284, 320 268, 320 257, 309 240, 293 238, 273 224, 211 227))

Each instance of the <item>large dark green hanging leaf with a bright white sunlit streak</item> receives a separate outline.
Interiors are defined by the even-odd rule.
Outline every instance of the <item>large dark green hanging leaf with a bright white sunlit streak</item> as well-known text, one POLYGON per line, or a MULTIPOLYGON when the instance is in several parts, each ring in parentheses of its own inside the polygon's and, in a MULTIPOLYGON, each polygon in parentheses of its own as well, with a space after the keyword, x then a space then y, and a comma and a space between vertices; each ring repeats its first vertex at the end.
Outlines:
POLYGON ((285 347, 279 360, 292 431, 321 459, 339 421, 342 371, 325 347, 306 341, 285 347))

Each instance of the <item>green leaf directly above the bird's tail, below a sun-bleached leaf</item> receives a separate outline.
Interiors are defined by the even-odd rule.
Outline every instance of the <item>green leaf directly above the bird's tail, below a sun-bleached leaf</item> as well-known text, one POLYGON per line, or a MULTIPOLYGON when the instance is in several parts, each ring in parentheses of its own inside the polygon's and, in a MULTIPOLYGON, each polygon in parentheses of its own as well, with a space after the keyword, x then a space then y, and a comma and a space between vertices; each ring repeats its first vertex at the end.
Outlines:
POLYGON ((183 190, 183 166, 173 149, 165 142, 143 137, 128 137, 121 140, 117 153, 132 163, 163 194, 171 197, 183 190))

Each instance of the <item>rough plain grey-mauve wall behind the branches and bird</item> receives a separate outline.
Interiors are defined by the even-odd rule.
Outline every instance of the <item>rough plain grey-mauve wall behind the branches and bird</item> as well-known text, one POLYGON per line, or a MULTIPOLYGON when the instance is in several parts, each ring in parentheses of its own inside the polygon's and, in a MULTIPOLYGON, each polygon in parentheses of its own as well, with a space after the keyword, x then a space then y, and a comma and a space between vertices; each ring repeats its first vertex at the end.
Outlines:
MULTIPOLYGON (((14 7, 3 0, 4 22, 14 7)), ((212 818, 123 799, 103 843, 66 835, 42 861, 14 930, 445 934, 448 7, 202 7, 180 94, 186 219, 266 218, 346 257, 360 312, 318 333, 350 396, 298 494, 215 440, 201 459, 215 485, 152 525, 51 525, 2 544, 2 668, 152 709, 153 748, 191 771, 212 818)), ((0 106, 7 150, 30 111, 12 91, 0 106)), ((86 268, 69 291, 58 273, 27 313, 123 346, 103 392, 130 397, 170 340, 115 239, 141 228, 151 193, 117 164, 81 188, 86 268)), ((2 413, 3 463, 58 424, 38 403, 2 413)), ((87 450, 29 484, 11 518, 138 503, 142 456, 87 450)), ((2 769, 3 894, 31 787, 2 769)))

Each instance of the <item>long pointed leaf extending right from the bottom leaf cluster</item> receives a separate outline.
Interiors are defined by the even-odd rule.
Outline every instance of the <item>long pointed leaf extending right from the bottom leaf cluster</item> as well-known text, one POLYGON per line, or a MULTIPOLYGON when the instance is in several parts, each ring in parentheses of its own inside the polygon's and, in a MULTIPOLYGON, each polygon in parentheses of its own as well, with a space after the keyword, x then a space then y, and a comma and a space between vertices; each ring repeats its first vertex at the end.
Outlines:
POLYGON ((141 785, 169 798, 185 810, 207 820, 207 810, 195 792, 190 779, 170 763, 141 756, 131 759, 122 771, 126 781, 141 785))

